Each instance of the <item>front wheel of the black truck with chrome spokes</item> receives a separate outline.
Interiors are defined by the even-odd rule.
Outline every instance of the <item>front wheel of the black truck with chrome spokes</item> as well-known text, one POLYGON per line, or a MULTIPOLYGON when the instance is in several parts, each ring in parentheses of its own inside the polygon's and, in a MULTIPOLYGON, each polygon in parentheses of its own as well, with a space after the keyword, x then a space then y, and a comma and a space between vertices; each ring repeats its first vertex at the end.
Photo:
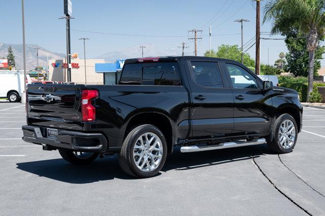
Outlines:
POLYGON ((298 127, 295 119, 291 115, 282 114, 281 116, 279 116, 275 120, 272 131, 273 139, 272 141, 267 141, 270 150, 277 154, 285 154, 293 151, 298 138, 298 127), (288 126, 285 127, 286 125, 288 126), (295 127, 294 129, 292 128, 293 126, 295 127), (285 128, 285 130, 283 130, 283 128, 285 128), (292 133, 290 133, 290 131, 292 131, 292 133), (294 136, 293 132, 295 134, 294 136), (285 136, 287 136, 287 138, 285 138, 285 136))

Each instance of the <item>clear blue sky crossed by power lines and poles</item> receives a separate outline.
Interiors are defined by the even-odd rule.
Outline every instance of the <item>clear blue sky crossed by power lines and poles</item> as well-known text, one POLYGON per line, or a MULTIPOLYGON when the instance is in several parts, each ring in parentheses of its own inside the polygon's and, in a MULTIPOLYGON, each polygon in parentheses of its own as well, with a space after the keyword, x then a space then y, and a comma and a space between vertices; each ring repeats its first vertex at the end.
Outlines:
MULTIPOLYGON (((88 37, 87 57, 92 58, 108 51, 119 50, 140 44, 153 43, 159 48, 176 48, 184 41, 192 52, 193 43, 187 40, 188 30, 202 28, 202 35, 208 35, 212 26, 212 47, 221 44, 240 45, 240 24, 236 19, 245 18, 244 43, 255 35, 255 3, 251 0, 165 0, 165 1, 99 1, 72 0, 73 19, 71 29, 103 33, 124 33, 144 35, 176 35, 184 37, 128 37, 81 31, 71 31, 71 51, 83 54, 81 37, 88 37), (220 8, 224 5, 219 13, 220 8), (215 14, 217 15, 208 22, 215 14), (207 24, 207 25, 205 25, 207 24), (204 26, 205 25, 205 26, 204 26), (219 35, 233 34, 233 35, 219 35)), ((262 13, 265 1, 261 3, 262 13)), ((48 50, 66 52, 63 0, 25 0, 25 33, 27 44, 37 44, 48 50)), ((21 44, 21 1, 2 3, 2 17, 6 22, 0 37, 1 43, 21 44), (6 33, 5 33, 6 32, 6 33)), ((261 31, 270 31, 271 23, 261 26, 261 31)), ((189 34, 191 36, 191 34, 189 34)), ((262 37, 269 37, 263 35, 262 37)), ((282 38, 275 35, 273 38, 282 38)), ((140 48, 139 48, 140 49, 140 48)), ((209 49, 209 37, 203 37, 198 44, 199 55, 209 49)), ((285 52, 283 41, 262 40, 261 62, 273 64, 280 52, 285 52)), ((255 56, 253 46, 248 53, 255 56)), ((323 62, 322 62, 323 63, 323 62)), ((322 64, 323 65, 323 64, 322 64)))

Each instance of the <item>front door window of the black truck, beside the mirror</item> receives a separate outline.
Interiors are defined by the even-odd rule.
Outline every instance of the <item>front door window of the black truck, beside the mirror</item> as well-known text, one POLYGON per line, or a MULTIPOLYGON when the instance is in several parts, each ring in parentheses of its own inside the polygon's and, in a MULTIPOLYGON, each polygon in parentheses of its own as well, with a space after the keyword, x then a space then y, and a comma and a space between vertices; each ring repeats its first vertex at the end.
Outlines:
POLYGON ((258 89, 256 79, 244 68, 226 64, 234 89, 258 89))

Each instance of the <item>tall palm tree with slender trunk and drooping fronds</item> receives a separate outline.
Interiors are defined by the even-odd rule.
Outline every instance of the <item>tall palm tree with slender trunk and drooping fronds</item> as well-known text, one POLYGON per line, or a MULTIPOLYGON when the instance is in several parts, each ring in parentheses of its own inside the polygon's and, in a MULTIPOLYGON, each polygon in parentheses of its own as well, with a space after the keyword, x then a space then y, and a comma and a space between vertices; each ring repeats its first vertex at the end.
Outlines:
POLYGON ((273 34, 295 28, 306 34, 309 52, 309 100, 313 90, 315 50, 325 27, 325 0, 271 0, 265 6, 263 23, 269 20, 273 20, 273 34))

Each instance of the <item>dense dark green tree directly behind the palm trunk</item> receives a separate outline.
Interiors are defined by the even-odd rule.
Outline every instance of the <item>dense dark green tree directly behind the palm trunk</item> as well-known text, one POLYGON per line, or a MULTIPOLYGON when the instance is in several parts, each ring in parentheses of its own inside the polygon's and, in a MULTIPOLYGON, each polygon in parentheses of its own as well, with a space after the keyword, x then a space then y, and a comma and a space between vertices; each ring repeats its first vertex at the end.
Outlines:
MULTIPOLYGON (((284 69, 292 73, 295 77, 308 77, 309 52, 306 48, 307 39, 303 37, 303 33, 298 32, 296 29, 286 32, 283 35, 286 36, 285 43, 288 49, 288 53, 285 55, 287 64, 284 69)), ((323 37, 319 40, 323 41, 323 37)), ((320 68, 320 60, 324 52, 325 47, 317 45, 314 57, 314 76, 318 76, 317 70, 320 68)))

